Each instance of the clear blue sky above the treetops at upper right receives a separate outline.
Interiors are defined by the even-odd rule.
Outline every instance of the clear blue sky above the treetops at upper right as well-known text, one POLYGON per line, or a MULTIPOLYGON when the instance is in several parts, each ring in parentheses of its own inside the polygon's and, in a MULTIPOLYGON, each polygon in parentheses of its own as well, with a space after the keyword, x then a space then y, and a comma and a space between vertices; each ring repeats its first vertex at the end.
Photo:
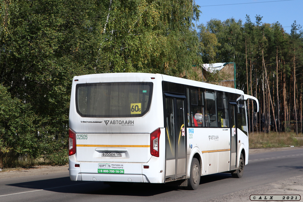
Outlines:
MULTIPOLYGON (((197 24, 206 24, 211 19, 219 19, 224 21, 228 18, 241 19, 244 23, 246 14, 249 15, 252 22, 255 22, 255 16, 263 16, 263 23, 279 22, 287 33, 290 33, 291 25, 294 20, 297 25, 303 25, 303 0, 291 0, 268 2, 275 0, 195 0, 196 4, 201 6, 200 19, 197 24), (265 2, 265 3, 252 3, 265 2), (222 5, 222 4, 237 4, 237 3, 252 3, 240 5, 222 5), (222 5, 222 6, 207 6, 207 5, 222 5)), ((303 29, 303 27, 302 27, 303 29)))

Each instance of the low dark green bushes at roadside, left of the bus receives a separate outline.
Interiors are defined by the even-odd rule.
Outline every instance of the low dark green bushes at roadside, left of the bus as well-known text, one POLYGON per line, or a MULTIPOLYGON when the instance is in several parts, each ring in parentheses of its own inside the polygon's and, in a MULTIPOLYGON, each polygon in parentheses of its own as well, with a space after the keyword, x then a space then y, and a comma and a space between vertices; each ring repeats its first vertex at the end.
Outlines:
POLYGON ((12 98, 0 84, 0 167, 17 166, 18 157, 24 154, 29 165, 40 157, 48 164, 66 164, 67 126, 54 129, 45 123, 30 104, 12 98))

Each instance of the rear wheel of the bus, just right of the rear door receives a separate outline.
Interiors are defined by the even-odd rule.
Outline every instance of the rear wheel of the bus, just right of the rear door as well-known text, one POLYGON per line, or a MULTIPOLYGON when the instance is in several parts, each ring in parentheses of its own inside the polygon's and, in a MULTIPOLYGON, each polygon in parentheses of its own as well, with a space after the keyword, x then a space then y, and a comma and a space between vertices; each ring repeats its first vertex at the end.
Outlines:
POLYGON ((188 179, 188 190, 196 190, 200 184, 201 169, 198 159, 193 158, 191 161, 190 175, 188 179))

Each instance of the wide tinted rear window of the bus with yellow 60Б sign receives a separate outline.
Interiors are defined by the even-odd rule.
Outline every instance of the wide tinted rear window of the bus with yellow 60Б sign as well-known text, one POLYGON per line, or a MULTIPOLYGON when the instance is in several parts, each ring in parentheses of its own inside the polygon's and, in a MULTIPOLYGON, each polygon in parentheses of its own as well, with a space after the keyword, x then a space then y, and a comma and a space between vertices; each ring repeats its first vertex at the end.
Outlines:
POLYGON ((82 117, 141 117, 149 110, 153 83, 76 85, 76 109, 82 117))

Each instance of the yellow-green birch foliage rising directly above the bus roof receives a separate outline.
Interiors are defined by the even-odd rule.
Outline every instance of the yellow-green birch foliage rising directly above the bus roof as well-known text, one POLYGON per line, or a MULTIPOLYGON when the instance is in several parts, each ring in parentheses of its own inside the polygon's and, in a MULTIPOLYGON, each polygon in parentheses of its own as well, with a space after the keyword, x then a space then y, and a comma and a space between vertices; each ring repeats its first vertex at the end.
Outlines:
POLYGON ((109 1, 102 23, 98 66, 103 72, 151 72, 191 77, 199 64, 191 1, 109 1))

